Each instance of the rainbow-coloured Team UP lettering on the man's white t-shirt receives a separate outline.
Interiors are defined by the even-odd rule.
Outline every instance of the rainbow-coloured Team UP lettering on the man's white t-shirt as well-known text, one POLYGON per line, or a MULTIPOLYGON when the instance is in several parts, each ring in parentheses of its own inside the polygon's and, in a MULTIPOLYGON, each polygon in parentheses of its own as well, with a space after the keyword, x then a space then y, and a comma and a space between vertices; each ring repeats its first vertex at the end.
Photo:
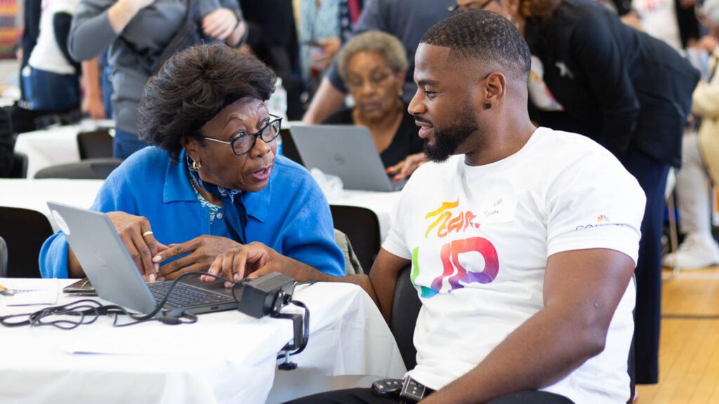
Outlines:
MULTIPOLYGON (((472 222, 476 215, 472 211, 454 211, 458 206, 459 200, 443 202, 439 208, 426 214, 425 219, 430 219, 432 222, 427 227, 424 237, 427 239, 431 235, 442 239, 452 233, 464 233, 470 226, 478 229, 480 224, 472 222)), ((412 250, 411 280, 413 285, 416 285, 416 279, 421 271, 418 254, 419 247, 415 247, 412 250)), ((442 275, 432 281, 430 288, 420 287, 423 298, 431 298, 439 293, 445 278, 448 278, 449 293, 452 293, 452 290, 464 288, 464 284, 467 283, 491 283, 499 273, 497 249, 492 242, 483 237, 452 240, 441 247, 439 255, 442 263, 442 275), (459 255, 467 252, 482 254, 485 260, 485 267, 482 271, 468 271, 459 262, 459 255)))

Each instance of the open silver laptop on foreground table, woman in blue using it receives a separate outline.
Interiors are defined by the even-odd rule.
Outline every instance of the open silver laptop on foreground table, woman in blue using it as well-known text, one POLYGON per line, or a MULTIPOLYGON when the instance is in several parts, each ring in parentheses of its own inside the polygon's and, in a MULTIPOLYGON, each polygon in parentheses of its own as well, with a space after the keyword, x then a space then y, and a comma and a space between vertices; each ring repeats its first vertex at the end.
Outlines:
MULTIPOLYGON (((172 282, 145 282, 105 214, 54 202, 48 202, 47 206, 101 298, 139 313, 155 310, 172 282)), ((239 298, 242 290, 235 290, 235 294, 239 298)), ((163 309, 173 308, 201 314, 233 310, 237 302, 232 290, 225 288, 221 281, 204 283, 198 277, 191 277, 175 285, 163 309)))

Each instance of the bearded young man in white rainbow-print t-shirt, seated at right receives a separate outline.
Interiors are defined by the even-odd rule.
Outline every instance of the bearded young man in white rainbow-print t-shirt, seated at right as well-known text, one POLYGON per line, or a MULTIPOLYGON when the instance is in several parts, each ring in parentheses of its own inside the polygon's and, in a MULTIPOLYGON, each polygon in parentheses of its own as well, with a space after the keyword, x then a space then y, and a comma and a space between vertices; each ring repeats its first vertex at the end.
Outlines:
MULTIPOLYGON (((629 398, 644 193, 599 144, 531 124, 529 65, 513 24, 484 11, 439 22, 416 53, 409 111, 433 162, 402 191, 369 277, 345 280, 389 318, 398 273, 412 263, 422 308, 408 377, 436 390, 422 403, 629 398)), ((242 254, 231 258, 260 262, 257 275, 274 260, 242 254)), ((398 398, 353 389, 298 402, 398 398)))

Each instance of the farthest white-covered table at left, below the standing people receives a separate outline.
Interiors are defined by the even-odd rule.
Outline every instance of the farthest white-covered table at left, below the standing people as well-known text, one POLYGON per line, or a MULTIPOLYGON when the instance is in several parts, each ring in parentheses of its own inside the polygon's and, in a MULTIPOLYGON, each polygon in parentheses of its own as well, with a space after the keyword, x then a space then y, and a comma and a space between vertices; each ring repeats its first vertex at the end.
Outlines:
POLYGON ((51 165, 80 161, 78 133, 114 127, 112 121, 81 121, 79 124, 52 127, 17 136, 15 151, 27 155, 27 178, 51 165))

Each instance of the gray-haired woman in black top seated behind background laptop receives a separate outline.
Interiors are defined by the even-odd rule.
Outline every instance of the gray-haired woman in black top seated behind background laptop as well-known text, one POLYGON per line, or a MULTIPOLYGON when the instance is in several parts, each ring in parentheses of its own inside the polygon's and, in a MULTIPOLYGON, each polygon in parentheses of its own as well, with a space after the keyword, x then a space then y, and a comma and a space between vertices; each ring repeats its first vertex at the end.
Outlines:
POLYGON ((367 127, 387 172, 395 180, 407 178, 425 157, 414 117, 402 102, 404 47, 392 35, 365 32, 342 48, 337 67, 354 107, 337 111, 323 123, 367 127))

